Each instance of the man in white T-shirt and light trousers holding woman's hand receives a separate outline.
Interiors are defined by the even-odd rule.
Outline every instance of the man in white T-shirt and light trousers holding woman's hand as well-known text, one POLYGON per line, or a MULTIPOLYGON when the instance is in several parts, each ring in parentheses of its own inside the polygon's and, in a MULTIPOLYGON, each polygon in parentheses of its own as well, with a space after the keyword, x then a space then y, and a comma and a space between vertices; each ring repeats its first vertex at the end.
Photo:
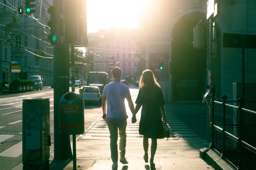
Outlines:
POLYGON ((103 89, 102 99, 102 118, 106 121, 110 132, 110 151, 112 159, 112 169, 118 168, 118 130, 120 136, 119 150, 120 162, 127 164, 125 158, 126 148, 126 126, 127 113, 125 108, 125 99, 128 102, 131 112, 134 112, 134 104, 130 94, 129 86, 121 83, 122 70, 115 67, 112 70, 112 77, 114 82, 106 84, 103 89))

